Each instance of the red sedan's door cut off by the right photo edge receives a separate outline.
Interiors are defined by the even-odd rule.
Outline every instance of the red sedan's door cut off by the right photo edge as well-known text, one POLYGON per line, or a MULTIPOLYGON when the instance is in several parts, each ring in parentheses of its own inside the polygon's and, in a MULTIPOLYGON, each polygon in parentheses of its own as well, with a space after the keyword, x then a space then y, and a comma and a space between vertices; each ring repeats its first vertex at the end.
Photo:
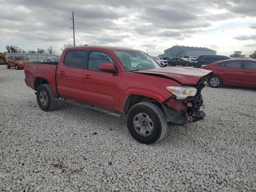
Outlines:
POLYGON ((244 80, 247 86, 256 88, 256 61, 244 61, 244 80))

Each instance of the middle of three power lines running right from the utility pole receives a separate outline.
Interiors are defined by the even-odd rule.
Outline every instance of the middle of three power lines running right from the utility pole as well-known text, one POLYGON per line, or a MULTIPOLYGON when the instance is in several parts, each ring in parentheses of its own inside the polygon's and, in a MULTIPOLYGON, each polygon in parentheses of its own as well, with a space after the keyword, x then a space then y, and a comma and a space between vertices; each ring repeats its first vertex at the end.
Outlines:
POLYGON ((225 14, 239 13, 239 12, 248 12, 248 11, 256 11, 256 9, 252 9, 252 10, 243 10, 243 11, 235 11, 235 12, 227 12, 227 13, 219 13, 219 14, 212 14, 212 15, 204 15, 204 16, 195 16, 195 17, 176 18, 176 19, 168 19, 168 20, 157 20, 157 21, 147 21, 147 22, 128 23, 128 24, 116 24, 116 25, 87 26, 87 27, 76 27, 76 28, 98 28, 98 27, 111 27, 111 26, 122 26, 122 25, 133 25, 133 24, 144 24, 144 23, 154 23, 154 22, 166 22, 166 21, 174 21, 174 20, 182 20, 182 19, 192 19, 192 18, 200 18, 200 17, 208 17, 208 16, 225 15, 225 14))

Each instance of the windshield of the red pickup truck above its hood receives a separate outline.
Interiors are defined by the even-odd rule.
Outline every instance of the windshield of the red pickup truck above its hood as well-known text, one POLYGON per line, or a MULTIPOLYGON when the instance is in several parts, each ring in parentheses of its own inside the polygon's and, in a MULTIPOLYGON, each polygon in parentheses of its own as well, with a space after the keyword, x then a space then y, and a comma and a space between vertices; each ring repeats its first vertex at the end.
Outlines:
POLYGON ((154 59, 142 51, 113 51, 126 71, 161 68, 154 59))

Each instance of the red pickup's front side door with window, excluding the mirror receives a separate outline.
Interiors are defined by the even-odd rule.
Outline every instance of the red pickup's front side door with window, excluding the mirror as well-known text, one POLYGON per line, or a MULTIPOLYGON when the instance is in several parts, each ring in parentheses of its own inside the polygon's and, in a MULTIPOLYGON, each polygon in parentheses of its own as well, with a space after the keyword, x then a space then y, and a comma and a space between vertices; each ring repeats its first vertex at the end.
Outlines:
POLYGON ((118 110, 121 72, 102 72, 102 63, 112 63, 117 68, 114 59, 106 52, 90 51, 88 67, 83 72, 84 102, 118 110))

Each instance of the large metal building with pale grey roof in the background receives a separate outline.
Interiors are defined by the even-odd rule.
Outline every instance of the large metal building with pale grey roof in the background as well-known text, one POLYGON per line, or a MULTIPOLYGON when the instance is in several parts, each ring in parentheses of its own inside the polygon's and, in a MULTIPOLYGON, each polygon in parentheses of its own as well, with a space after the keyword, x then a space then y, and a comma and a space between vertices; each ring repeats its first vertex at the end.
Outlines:
POLYGON ((172 46, 164 50, 165 57, 216 55, 216 51, 205 47, 172 46))

